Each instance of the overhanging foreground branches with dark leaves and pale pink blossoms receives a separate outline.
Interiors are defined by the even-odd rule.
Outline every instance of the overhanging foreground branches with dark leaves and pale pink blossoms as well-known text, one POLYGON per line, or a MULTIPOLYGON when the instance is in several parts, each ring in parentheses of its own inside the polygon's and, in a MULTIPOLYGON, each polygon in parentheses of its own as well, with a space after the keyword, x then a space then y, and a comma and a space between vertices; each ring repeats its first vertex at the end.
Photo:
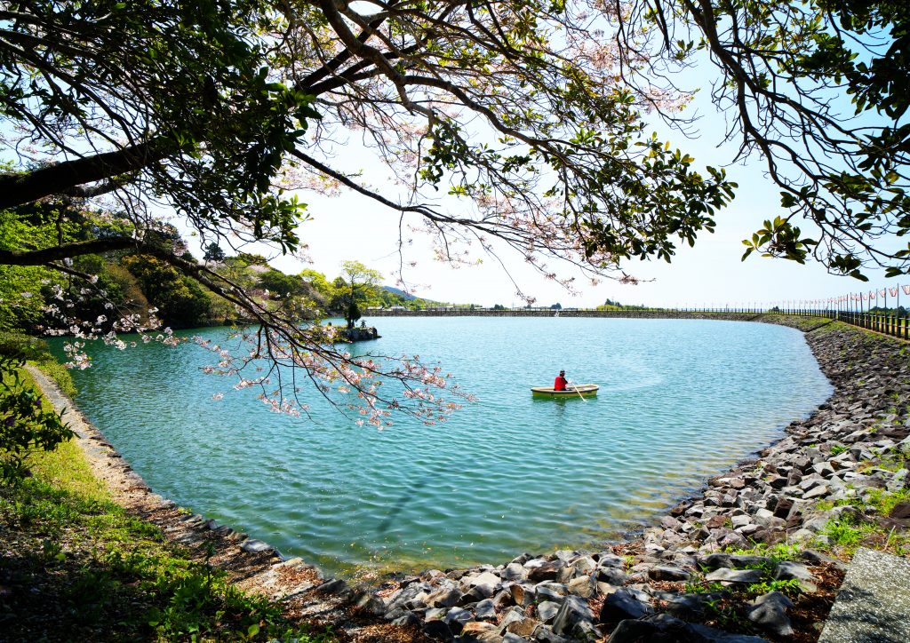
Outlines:
MULTIPOLYGON (((289 190, 341 187, 421 217, 445 259, 460 260, 462 242, 495 251, 498 239, 566 286, 548 262, 633 280, 624 260, 669 261, 733 197, 723 170, 696 171, 692 156, 647 134, 648 114, 692 125, 679 114, 689 88, 672 78, 702 60, 718 73, 713 98, 740 157, 761 156, 782 190, 781 216, 747 254, 904 274, 910 251, 878 240, 910 231, 908 14, 858 0, 16 2, 0 10, 0 117, 15 159, 0 174, 0 208, 95 232, 4 240, 0 264, 42 266, 90 290, 94 276, 74 258, 151 256, 258 323, 249 356, 215 370, 260 387, 278 410, 304 395, 286 366, 324 394, 355 389, 373 424, 389 408, 435 421, 452 408, 438 371, 339 353, 226 271, 160 243, 163 213, 204 246, 293 253, 306 206, 289 190), (403 191, 364 185, 359 158, 343 165, 338 143, 354 136, 403 191), (465 206, 434 205, 436 191, 465 206), (802 220, 817 230, 802 232, 802 220), (261 359, 264 375, 247 377, 261 359), (407 395, 381 397, 380 371, 407 395)), ((79 336, 146 325, 84 326, 61 310, 59 326, 79 336)))

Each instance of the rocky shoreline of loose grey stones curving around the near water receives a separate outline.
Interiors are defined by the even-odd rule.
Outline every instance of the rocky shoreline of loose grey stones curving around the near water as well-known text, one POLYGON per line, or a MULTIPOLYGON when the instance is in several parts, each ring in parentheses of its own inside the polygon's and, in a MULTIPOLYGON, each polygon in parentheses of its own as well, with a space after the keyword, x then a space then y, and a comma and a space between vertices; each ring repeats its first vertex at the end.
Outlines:
POLYGON ((901 492, 910 482, 910 348, 828 320, 760 320, 805 332, 834 385, 832 397, 758 457, 672 507, 659 526, 601 551, 522 554, 499 566, 350 587, 229 527, 181 514, 136 482, 128 465, 118 468, 145 497, 137 513, 180 541, 215 542, 213 562, 230 568, 244 561, 242 587, 282 599, 296 616, 328 623, 342 638, 390 640, 408 631, 490 643, 814 640, 843 578, 843 564, 815 550, 831 526, 885 521, 894 534, 910 525, 910 507, 873 517, 853 502, 901 492), (729 553, 737 549, 750 551, 729 553))

